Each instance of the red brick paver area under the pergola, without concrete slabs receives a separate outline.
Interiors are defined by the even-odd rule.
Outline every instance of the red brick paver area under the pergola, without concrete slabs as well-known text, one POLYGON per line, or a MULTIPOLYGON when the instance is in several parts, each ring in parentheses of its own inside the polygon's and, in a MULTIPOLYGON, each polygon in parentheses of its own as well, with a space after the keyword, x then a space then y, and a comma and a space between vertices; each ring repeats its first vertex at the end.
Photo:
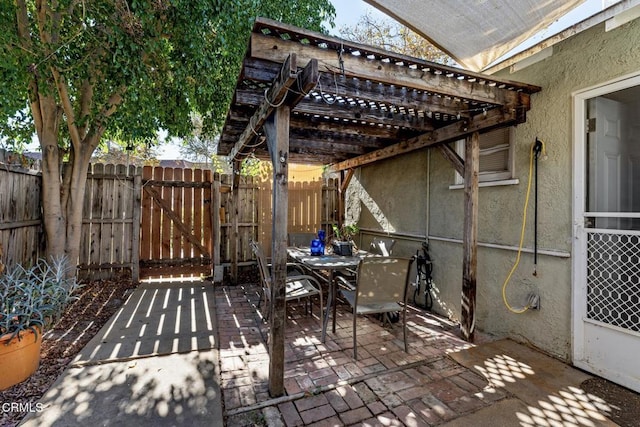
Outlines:
MULTIPOLYGON (((318 307, 287 307, 285 396, 268 392, 268 325, 256 285, 218 286, 221 387, 227 426, 429 426, 442 424, 507 397, 448 353, 468 348, 458 326, 411 308, 409 353, 400 323, 358 319, 353 359, 351 313, 338 305, 336 333, 320 341, 318 307)), ((486 340, 486 337, 484 338, 486 340)))

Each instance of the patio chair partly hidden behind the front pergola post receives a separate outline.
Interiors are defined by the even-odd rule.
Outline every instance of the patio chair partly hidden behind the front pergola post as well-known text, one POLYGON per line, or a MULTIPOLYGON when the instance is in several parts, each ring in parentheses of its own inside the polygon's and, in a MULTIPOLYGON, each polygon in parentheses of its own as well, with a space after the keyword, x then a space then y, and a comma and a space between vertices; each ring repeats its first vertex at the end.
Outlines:
MULTIPOLYGON (((264 295, 264 300, 266 304, 265 310, 265 320, 269 318, 271 314, 271 273, 269 271, 270 265, 267 264, 267 259, 264 256, 264 251, 262 250, 262 245, 258 242, 251 242, 251 249, 253 253, 256 255, 256 259, 258 261, 258 270, 260 271, 260 280, 262 282, 262 295, 260 295, 260 301, 258 302, 258 306, 262 303, 262 296, 264 295)), ((287 264, 289 267, 290 265, 287 264)), ((293 266, 297 267, 297 264, 293 266)), ((287 272, 287 281, 286 281, 286 291, 285 291, 285 302, 291 300, 300 300, 302 298, 307 298, 309 303, 309 311, 313 314, 311 310, 312 303, 311 297, 314 295, 318 295, 320 299, 320 315, 322 318, 322 288, 320 287, 320 283, 316 280, 315 277, 299 274, 297 270, 288 271, 287 272)), ((305 313, 307 311, 307 303, 305 302, 305 313)))

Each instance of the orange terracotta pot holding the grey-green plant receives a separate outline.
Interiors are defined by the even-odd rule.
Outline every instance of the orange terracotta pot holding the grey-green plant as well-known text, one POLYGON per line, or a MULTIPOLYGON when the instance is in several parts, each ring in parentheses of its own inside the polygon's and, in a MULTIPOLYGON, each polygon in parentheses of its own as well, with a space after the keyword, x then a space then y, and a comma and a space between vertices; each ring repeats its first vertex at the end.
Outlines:
POLYGON ((0 337, 0 390, 18 384, 33 374, 40 364, 40 345, 42 332, 20 333, 20 339, 9 339, 10 335, 0 337))

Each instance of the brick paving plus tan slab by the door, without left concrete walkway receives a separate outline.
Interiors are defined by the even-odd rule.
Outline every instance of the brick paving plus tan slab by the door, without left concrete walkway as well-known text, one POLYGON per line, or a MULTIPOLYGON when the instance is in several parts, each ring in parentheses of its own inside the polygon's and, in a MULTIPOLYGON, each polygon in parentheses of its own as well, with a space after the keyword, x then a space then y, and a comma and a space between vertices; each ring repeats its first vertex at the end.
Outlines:
POLYGON ((408 354, 401 323, 361 317, 355 361, 348 306, 338 305, 336 333, 321 343, 318 307, 311 316, 290 303, 286 393, 271 398, 257 302, 252 284, 215 289, 227 426, 616 425, 606 402, 579 389, 585 373, 509 340, 469 344, 457 325, 414 307, 408 354))

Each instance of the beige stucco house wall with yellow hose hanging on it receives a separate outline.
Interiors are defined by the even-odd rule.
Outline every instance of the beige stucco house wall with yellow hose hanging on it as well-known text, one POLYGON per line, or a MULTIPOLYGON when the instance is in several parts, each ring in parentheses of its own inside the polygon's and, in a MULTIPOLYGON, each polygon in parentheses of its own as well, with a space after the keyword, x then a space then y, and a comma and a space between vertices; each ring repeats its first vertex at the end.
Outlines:
MULTIPOLYGON (((640 22, 610 32, 604 24, 553 47, 551 57, 517 73, 503 70, 501 77, 539 85, 532 96, 527 122, 517 126, 517 185, 480 189, 478 237, 480 243, 517 246, 529 172, 531 144, 545 141, 547 158, 539 165, 538 244, 557 255, 523 253, 507 288, 513 306, 525 303, 530 290, 541 296, 541 310, 510 313, 502 302, 502 284, 516 252, 480 247, 478 250, 477 327, 498 336, 527 341, 557 357, 571 355, 572 260, 572 93, 630 73, 640 73, 640 22), (563 256, 564 255, 564 256, 563 256)), ((458 319, 462 284, 462 245, 438 240, 461 239, 463 192, 452 190, 454 172, 437 149, 430 155, 416 152, 379 165, 361 168, 349 193, 349 211, 361 226, 375 220, 362 205, 358 191, 378 201, 396 232, 428 230, 438 292, 436 310, 458 319), (428 166, 427 165, 428 160, 428 166), (391 177, 391 178, 390 178, 391 177), (430 195, 427 202, 426 195, 430 195), (428 215, 426 214, 428 210, 428 215), (420 221, 425 221, 420 224, 420 221)), ((369 197, 368 196, 368 197, 369 197)), ((524 246, 533 247, 533 189, 524 246)), ((419 246, 417 242, 411 242, 419 246)))

